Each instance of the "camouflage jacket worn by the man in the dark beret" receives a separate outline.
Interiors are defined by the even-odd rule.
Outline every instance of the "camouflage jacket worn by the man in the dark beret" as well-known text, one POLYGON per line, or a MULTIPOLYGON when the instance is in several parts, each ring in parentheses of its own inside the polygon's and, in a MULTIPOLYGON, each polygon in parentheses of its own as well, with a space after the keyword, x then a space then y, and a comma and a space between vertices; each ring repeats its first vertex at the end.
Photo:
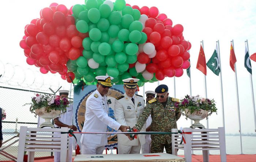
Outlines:
MULTIPOLYGON (((152 132, 171 132, 172 128, 177 128, 176 121, 180 118, 181 112, 179 108, 176 108, 174 104, 177 99, 168 97, 166 107, 163 107, 163 104, 155 101, 155 99, 150 100, 149 103, 144 108, 143 113, 139 116, 136 128, 141 130, 144 123, 146 122, 148 116, 151 114, 152 123, 151 130, 152 132), (174 101, 173 101, 174 100, 174 101), (150 101, 153 101, 150 103, 150 101)), ((151 135, 153 142, 165 143, 167 140, 168 143, 172 143, 172 135, 151 135)))

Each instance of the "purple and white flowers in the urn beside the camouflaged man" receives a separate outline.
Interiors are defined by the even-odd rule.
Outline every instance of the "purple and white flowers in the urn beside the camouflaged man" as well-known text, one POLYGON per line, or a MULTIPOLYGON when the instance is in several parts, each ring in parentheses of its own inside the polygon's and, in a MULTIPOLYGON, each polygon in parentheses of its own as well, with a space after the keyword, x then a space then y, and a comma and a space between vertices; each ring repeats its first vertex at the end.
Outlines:
POLYGON ((217 114, 215 101, 213 99, 210 100, 202 98, 199 95, 191 97, 189 95, 185 96, 184 99, 180 100, 180 103, 177 105, 177 107, 180 107, 181 111, 185 111, 185 109, 188 109, 190 113, 200 113, 200 109, 203 109, 209 111, 208 116, 210 116, 213 112, 216 112, 217 114))

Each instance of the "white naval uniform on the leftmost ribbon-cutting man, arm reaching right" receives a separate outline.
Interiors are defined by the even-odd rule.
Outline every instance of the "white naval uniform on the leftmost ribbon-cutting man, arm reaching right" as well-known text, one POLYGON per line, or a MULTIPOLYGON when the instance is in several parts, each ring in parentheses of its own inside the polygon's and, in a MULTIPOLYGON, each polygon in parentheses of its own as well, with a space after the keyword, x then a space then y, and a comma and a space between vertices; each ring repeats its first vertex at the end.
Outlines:
MULTIPOLYGON (((107 96, 95 90, 86 101, 85 121, 82 132, 106 132, 107 126, 118 130, 121 124, 108 116, 107 96)), ((108 144, 107 134, 82 134, 82 154, 102 154, 108 144), (94 151, 87 149, 94 147, 94 151), (103 147, 102 147, 103 146, 103 147), (98 151, 98 148, 100 150, 98 151)))

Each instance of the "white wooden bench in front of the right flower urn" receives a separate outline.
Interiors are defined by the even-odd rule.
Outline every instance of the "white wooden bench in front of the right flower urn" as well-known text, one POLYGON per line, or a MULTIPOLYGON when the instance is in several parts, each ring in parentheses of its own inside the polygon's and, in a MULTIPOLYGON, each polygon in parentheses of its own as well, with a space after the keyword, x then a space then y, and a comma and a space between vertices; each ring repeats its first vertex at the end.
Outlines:
MULTIPOLYGON (((172 134, 172 153, 177 155, 178 149, 184 150, 185 160, 192 161, 192 150, 202 150, 203 161, 209 161, 209 150, 220 150, 221 161, 226 161, 226 143, 225 143, 225 129, 219 127, 218 129, 192 129, 184 128, 184 132, 192 132, 192 134, 183 134, 184 141, 181 142, 181 134, 172 134)), ((177 129, 172 129, 172 132, 178 132, 177 129)))

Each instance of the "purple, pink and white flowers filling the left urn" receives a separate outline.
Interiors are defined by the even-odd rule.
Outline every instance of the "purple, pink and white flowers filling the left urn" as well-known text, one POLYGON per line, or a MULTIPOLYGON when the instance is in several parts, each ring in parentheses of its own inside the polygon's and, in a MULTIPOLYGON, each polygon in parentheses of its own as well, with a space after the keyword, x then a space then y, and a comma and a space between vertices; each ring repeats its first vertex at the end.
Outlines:
POLYGON ((32 97, 32 103, 27 103, 25 105, 31 105, 31 112, 35 111, 35 109, 40 108, 45 108, 46 112, 51 112, 51 110, 53 109, 66 112, 66 107, 68 106, 68 104, 68 99, 60 99, 60 96, 36 94, 35 97, 32 97))

